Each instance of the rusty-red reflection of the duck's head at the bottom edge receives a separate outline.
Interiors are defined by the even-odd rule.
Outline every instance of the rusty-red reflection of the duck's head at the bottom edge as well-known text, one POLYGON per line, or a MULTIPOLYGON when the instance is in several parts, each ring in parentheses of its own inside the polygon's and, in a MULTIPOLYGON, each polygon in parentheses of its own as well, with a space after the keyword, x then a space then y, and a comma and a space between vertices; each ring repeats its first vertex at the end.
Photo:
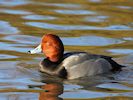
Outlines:
POLYGON ((63 84, 49 83, 41 86, 41 88, 47 91, 40 93, 39 100, 63 100, 59 97, 63 93, 63 84))

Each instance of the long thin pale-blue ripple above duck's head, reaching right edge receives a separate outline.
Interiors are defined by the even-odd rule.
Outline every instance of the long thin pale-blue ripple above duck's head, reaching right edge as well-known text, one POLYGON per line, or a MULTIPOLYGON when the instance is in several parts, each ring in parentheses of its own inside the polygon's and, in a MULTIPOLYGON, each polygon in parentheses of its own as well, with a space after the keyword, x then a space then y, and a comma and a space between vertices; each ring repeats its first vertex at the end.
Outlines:
POLYGON ((133 30, 125 25, 111 25, 108 27, 96 27, 86 25, 55 25, 41 22, 26 22, 26 25, 54 30, 133 30))

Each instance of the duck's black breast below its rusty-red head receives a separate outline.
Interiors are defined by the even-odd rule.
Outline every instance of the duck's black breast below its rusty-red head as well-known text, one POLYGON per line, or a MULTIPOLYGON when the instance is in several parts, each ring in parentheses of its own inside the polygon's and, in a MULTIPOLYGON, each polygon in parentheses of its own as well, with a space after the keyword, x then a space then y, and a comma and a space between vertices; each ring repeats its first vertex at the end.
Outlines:
POLYGON ((67 78, 67 71, 63 66, 60 66, 60 63, 61 62, 51 62, 46 58, 40 63, 40 71, 61 78, 67 78))

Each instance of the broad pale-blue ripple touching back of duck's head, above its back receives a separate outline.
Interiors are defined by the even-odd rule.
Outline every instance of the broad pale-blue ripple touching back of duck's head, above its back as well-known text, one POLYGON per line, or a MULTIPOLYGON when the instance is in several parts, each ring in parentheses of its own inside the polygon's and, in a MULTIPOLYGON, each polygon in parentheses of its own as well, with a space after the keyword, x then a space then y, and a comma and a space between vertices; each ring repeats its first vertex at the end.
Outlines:
POLYGON ((106 46, 112 44, 123 43, 120 39, 105 38, 99 36, 82 36, 82 37, 67 37, 62 38, 65 45, 78 45, 78 46, 106 46), (75 42, 76 41, 76 42, 75 42))

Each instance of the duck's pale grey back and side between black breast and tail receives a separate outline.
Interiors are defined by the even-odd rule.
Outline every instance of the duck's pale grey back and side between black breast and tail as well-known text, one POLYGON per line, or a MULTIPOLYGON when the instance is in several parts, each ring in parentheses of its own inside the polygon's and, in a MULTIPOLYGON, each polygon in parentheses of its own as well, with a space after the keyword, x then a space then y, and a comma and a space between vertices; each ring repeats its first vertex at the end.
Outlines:
POLYGON ((68 79, 105 73, 112 68, 111 64, 100 55, 85 52, 71 54, 63 60, 61 66, 67 70, 68 79))

